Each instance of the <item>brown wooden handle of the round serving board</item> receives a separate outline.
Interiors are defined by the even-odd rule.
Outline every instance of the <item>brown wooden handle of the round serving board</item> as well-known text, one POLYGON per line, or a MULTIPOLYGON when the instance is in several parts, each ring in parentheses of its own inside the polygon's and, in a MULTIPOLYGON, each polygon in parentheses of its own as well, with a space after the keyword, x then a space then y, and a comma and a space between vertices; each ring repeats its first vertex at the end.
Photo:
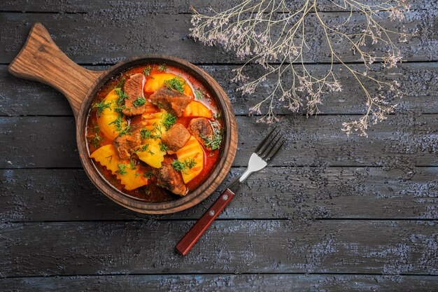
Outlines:
POLYGON ((17 77, 39 81, 62 92, 76 118, 88 90, 104 73, 85 69, 70 60, 41 23, 31 28, 24 47, 8 69, 17 77))

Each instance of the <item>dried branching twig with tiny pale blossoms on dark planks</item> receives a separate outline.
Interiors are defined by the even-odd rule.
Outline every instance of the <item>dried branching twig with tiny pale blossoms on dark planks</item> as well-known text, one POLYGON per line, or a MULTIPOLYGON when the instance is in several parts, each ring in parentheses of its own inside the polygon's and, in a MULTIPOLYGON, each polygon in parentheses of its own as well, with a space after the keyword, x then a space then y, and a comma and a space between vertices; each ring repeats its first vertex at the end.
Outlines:
POLYGON ((392 39, 398 37, 398 41, 403 42, 407 41, 408 35, 404 29, 403 32, 386 29, 379 25, 377 20, 385 13, 388 13, 391 20, 402 20, 403 12, 409 10, 409 6, 404 0, 382 0, 380 4, 374 5, 362 3, 360 0, 329 2, 338 9, 349 12, 341 25, 327 24, 317 0, 304 0, 295 8, 290 8, 290 1, 286 0, 246 0, 227 11, 213 11, 211 15, 194 10, 191 36, 208 46, 221 45, 226 50, 233 50, 238 57, 247 59, 243 66, 235 69, 236 76, 233 79, 243 83, 238 89, 243 94, 251 95, 268 77, 276 78, 271 93, 262 102, 250 108, 251 113, 260 115, 262 105, 267 104, 267 113, 257 120, 265 123, 277 120, 274 114, 274 100, 277 96, 290 111, 298 111, 305 104, 309 115, 319 113, 318 105, 322 104, 322 95, 325 92, 342 90, 334 71, 334 63, 341 64, 358 83, 365 95, 367 106, 362 118, 343 123, 342 130, 346 134, 358 131, 360 135, 367 136, 369 123, 386 119, 386 114, 392 113, 395 108, 394 104, 386 102, 388 93, 383 95, 381 92, 391 92, 391 97, 402 96, 397 81, 379 81, 367 72, 372 70, 370 65, 374 62, 387 68, 396 67, 402 56, 396 46, 397 41, 394 42, 392 39), (346 27, 354 12, 365 16, 365 24, 359 32, 348 33, 346 27), (315 22, 315 29, 323 33, 323 39, 329 48, 330 69, 324 76, 312 74, 304 62, 303 55, 311 46, 308 43, 310 37, 306 35, 310 18, 315 22), (353 54, 362 60, 363 71, 353 69, 342 60, 340 52, 332 46, 334 39, 342 39, 349 44, 353 54), (373 51, 365 50, 368 40, 373 44, 383 43, 388 48, 386 54, 379 56, 373 51), (278 62, 279 65, 274 66, 273 62, 278 62), (266 73, 250 80, 244 74, 250 63, 262 65, 266 73), (376 85, 376 94, 372 95, 365 87, 365 81, 372 81, 376 85))

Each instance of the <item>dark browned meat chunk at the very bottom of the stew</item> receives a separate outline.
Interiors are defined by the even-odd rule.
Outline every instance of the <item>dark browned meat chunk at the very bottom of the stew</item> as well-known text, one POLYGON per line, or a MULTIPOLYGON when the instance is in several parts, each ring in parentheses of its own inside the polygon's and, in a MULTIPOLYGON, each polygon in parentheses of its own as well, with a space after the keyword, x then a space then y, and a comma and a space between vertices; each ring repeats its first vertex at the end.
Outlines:
POLYGON ((183 176, 181 172, 177 172, 172 167, 174 160, 168 156, 164 158, 162 167, 157 171, 157 186, 166 188, 176 195, 185 195, 187 193, 187 187, 184 184, 183 176))

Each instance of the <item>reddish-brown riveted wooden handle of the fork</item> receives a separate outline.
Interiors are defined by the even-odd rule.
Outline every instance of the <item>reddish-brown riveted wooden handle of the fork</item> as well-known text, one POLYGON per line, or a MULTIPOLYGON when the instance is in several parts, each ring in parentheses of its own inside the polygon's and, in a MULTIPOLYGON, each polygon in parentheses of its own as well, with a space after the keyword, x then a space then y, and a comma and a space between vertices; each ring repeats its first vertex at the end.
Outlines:
POLYGON ((183 239, 176 244, 176 250, 185 256, 233 197, 234 193, 227 188, 222 195, 218 197, 218 200, 199 218, 197 223, 190 228, 183 239))

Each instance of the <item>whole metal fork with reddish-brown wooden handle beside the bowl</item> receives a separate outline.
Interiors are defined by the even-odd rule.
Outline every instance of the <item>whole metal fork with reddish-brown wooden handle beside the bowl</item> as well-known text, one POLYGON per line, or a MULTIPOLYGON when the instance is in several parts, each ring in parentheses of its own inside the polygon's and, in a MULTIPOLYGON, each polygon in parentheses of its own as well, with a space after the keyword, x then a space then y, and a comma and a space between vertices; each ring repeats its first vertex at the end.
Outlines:
POLYGON ((241 174, 228 188, 218 197, 218 200, 202 215, 201 218, 190 228, 189 232, 183 239, 176 244, 176 250, 185 256, 198 239, 209 228, 211 223, 219 216, 220 212, 227 206, 227 204, 234 197, 234 194, 239 190, 243 181, 245 181, 250 174, 258 172, 268 165, 268 163, 280 151, 281 146, 286 139, 280 134, 281 131, 276 131, 274 127, 271 132, 260 142, 259 146, 251 154, 245 172, 241 174))

